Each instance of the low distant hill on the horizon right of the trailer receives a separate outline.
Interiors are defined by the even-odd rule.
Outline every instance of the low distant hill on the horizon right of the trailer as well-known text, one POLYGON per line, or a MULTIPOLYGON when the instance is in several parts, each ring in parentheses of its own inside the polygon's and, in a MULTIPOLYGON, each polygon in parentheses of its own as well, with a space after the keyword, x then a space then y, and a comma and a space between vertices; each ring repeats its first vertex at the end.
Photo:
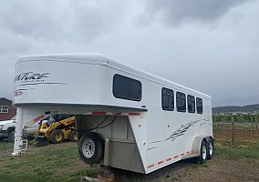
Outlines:
POLYGON ((259 113, 259 104, 247 106, 216 106, 212 113, 259 113))

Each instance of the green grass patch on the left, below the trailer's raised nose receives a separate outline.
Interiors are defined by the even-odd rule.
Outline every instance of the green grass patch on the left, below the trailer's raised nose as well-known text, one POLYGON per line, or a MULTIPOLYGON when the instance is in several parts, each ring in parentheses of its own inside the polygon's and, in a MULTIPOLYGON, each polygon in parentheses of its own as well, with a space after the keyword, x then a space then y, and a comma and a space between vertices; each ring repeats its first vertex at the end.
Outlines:
POLYGON ((78 160, 76 143, 29 148, 22 157, 12 157, 13 144, 0 142, 0 182, 2 181, 78 181, 96 175, 78 160))

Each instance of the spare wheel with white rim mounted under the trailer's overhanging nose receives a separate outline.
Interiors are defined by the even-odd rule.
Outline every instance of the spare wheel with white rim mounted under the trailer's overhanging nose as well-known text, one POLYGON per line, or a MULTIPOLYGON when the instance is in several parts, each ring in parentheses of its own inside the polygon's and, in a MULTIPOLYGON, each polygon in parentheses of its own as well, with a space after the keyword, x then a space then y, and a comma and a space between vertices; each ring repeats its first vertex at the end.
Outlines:
POLYGON ((97 133, 88 132, 79 139, 79 156, 88 165, 97 164, 101 160, 103 149, 103 140, 97 133))

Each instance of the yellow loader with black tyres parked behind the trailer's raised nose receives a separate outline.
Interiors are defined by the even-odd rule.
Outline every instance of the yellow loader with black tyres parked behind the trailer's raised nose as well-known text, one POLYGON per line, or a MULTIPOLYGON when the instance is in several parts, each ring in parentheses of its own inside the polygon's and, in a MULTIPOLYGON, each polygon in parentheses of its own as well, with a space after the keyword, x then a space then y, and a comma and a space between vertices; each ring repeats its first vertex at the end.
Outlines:
MULTIPOLYGON (((42 146, 42 143, 48 141, 54 144, 60 144, 64 139, 78 141, 78 133, 75 131, 75 116, 53 116, 52 122, 42 121, 36 130, 36 137, 41 139, 36 146, 42 146), (65 119, 64 119, 65 118, 65 119)), ((50 120, 50 119, 49 119, 50 120)))

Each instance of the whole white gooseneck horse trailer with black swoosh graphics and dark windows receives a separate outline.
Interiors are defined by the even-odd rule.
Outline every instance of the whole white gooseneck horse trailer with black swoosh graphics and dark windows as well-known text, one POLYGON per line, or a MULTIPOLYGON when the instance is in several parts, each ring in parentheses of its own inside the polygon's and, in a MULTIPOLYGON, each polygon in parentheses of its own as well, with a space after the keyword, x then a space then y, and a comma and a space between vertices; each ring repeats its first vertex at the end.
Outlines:
POLYGON ((24 56, 16 63, 13 156, 22 130, 51 114, 73 114, 79 156, 148 174, 213 153, 212 98, 96 54, 24 56))

